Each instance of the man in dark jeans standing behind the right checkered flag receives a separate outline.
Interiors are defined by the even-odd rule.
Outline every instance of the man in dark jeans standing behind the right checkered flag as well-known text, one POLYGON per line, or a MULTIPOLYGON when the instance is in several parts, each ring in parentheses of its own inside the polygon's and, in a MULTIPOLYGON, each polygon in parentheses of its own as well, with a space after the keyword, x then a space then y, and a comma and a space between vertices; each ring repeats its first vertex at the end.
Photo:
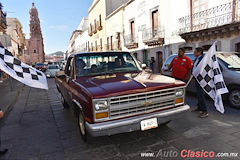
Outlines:
MULTIPOLYGON (((203 58, 203 48, 202 47, 198 47, 195 49, 194 51, 194 56, 196 57, 194 64, 193 64, 193 69, 192 71, 194 71, 197 68, 197 65, 200 63, 200 61, 203 58)), ((201 118, 205 118, 208 116, 208 112, 207 112, 207 106, 206 106, 206 100, 204 97, 204 90, 202 89, 202 87, 200 86, 200 84, 198 83, 198 81, 195 79, 195 87, 196 87, 196 92, 197 92, 197 98, 198 98, 198 103, 197 103, 197 108, 192 110, 193 113, 198 113, 199 117, 201 118)))

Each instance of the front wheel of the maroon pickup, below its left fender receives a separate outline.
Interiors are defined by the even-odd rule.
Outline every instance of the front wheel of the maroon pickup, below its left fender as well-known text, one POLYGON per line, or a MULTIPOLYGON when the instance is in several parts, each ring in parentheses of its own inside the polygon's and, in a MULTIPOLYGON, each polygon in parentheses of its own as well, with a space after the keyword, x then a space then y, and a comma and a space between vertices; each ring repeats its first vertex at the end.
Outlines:
POLYGON ((78 115, 78 127, 79 127, 79 131, 81 134, 81 137, 83 139, 84 142, 90 142, 92 139, 92 136, 86 131, 86 125, 85 125, 86 121, 84 119, 84 116, 82 114, 82 112, 79 112, 78 115))

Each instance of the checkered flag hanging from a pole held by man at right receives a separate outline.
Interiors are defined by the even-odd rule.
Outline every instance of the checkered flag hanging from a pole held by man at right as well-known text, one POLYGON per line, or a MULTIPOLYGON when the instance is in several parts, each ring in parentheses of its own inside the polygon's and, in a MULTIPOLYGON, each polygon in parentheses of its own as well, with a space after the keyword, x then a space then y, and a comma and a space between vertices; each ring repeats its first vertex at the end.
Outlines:
POLYGON ((224 113, 221 94, 227 93, 228 89, 224 83, 222 72, 220 70, 215 43, 208 50, 196 69, 193 76, 199 82, 203 90, 214 100, 216 109, 224 113))

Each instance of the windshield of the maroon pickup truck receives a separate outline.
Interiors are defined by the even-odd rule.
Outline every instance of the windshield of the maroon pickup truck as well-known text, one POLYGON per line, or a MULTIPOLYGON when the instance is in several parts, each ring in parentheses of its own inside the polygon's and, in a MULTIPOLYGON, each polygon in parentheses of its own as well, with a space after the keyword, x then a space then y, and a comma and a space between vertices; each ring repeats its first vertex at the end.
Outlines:
POLYGON ((140 66, 132 55, 125 52, 78 55, 75 66, 76 76, 140 71, 140 66))

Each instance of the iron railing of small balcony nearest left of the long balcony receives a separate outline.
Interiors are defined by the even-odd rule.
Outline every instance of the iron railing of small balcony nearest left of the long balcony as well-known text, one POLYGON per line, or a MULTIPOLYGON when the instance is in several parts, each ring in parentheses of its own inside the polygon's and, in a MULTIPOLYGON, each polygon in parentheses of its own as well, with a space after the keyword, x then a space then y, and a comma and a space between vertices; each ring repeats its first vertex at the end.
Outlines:
POLYGON ((142 38, 144 41, 157 40, 159 38, 164 38, 165 29, 164 26, 159 26, 157 28, 148 28, 143 31, 142 38))

